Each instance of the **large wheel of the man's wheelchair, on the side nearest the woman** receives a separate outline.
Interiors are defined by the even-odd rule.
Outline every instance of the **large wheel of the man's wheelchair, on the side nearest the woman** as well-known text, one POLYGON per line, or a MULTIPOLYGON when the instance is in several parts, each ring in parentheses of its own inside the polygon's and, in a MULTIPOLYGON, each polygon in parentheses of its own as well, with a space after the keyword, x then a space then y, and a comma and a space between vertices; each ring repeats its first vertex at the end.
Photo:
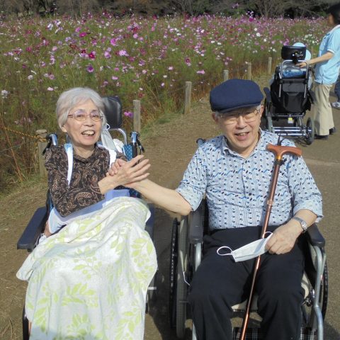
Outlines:
POLYGON ((177 289, 176 289, 176 334, 183 339, 186 333, 186 294, 188 285, 185 281, 187 254, 188 254, 188 217, 184 217, 179 225, 178 237, 178 265, 177 265, 177 289))

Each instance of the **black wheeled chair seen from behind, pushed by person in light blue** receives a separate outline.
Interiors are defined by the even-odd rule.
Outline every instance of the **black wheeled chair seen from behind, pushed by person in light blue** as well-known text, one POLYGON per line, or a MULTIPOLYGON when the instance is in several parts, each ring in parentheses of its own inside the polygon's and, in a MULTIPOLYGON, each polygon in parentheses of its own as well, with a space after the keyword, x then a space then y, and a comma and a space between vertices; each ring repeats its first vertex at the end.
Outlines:
POLYGON ((312 104, 310 92, 310 67, 305 61, 306 47, 302 44, 283 46, 283 62, 276 67, 271 89, 263 89, 266 94, 266 130, 288 138, 300 138, 307 145, 314 141, 314 120, 303 118, 312 104), (297 67, 297 62, 305 62, 306 67, 297 67), (274 125, 275 123, 275 125, 274 125))

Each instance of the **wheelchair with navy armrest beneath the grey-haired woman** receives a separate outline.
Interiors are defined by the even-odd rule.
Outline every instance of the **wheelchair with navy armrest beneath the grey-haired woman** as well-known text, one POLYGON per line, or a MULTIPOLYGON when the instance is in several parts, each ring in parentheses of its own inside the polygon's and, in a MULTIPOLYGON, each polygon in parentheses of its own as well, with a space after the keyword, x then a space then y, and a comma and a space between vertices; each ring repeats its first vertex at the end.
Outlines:
MULTIPOLYGON (((130 134, 130 142, 128 142, 128 135, 123 130, 123 115, 122 115, 122 103, 120 102, 120 99, 116 96, 108 96, 103 97, 104 101, 104 114, 106 115, 106 120, 108 122, 108 125, 110 126, 110 131, 118 132, 122 136, 122 144, 123 144, 123 152, 125 154, 125 157, 130 160, 133 157, 137 156, 137 154, 140 152, 144 152, 144 148, 142 147, 142 144, 140 143, 140 140, 138 139, 139 134, 137 132, 131 132, 130 134)), ((109 141, 110 142, 110 141, 109 141)), ((112 141, 113 142, 113 141, 112 141)), ((50 134, 47 136, 47 148, 50 147, 50 145, 57 145, 57 135, 50 134)), ((137 191, 134 191, 130 189, 130 196, 141 198, 140 193, 137 191)), ((147 220, 145 230, 149 233, 149 236, 151 239, 154 239, 154 205, 152 203, 148 203, 149 210, 151 212, 151 215, 149 217, 149 220, 147 220)), ((21 234, 20 239, 18 239, 17 242, 17 249, 26 249, 28 252, 33 251, 35 248, 38 239, 40 237, 40 234, 45 229, 45 223, 48 219, 48 215, 50 212, 50 209, 52 208, 52 202, 50 200, 49 193, 47 192, 47 200, 46 205, 44 207, 38 208, 35 213, 33 214, 33 217, 31 217, 30 221, 28 222, 28 225, 23 231, 23 234, 21 234)), ((154 278, 152 278, 152 281, 149 284, 148 290, 147 290, 147 304, 146 304, 146 312, 149 310, 149 305, 154 302, 154 300, 157 297, 157 273, 155 273, 154 278)), ((23 340, 29 339, 29 322, 26 317, 25 313, 25 307, 23 308, 23 340)))

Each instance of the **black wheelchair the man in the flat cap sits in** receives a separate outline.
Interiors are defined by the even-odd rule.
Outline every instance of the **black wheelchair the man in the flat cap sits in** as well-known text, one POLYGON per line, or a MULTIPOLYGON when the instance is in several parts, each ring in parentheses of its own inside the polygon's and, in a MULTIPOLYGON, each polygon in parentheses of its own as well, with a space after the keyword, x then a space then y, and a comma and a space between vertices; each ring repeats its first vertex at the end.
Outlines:
MULTIPOLYGON (((169 286, 169 322, 176 329, 176 336, 183 339, 188 320, 191 319, 188 308, 188 286, 200 265, 203 253, 203 236, 209 233, 208 205, 204 199, 198 209, 181 220, 174 219, 171 234, 170 286, 169 286)), ((305 245, 305 273, 302 288, 305 299, 301 307, 302 327, 300 340, 324 339, 324 317, 327 310, 328 271, 327 257, 324 251, 325 240, 317 225, 301 234, 305 245)), ((242 317, 246 301, 233 306, 236 321, 233 321, 233 340, 239 339, 241 327, 237 317, 242 317)), ((256 314, 257 297, 251 305, 251 323, 246 331, 246 340, 262 339, 260 332, 261 318, 256 314)), ((192 326, 192 340, 196 340, 195 327, 192 326)))

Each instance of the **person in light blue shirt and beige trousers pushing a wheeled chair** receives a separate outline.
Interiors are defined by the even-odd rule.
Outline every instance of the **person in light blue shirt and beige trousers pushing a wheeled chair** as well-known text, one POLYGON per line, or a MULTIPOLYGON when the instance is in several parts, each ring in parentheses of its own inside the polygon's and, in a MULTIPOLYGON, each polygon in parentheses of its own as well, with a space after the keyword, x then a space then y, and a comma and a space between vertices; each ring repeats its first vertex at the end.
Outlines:
MULTIPOLYGON (((329 7, 328 13, 327 22, 332 28, 324 35, 318 56, 308 62, 309 65, 316 65, 313 86, 315 102, 311 111, 315 122, 315 138, 320 140, 328 140, 328 136, 336 132, 329 91, 340 69, 340 4, 329 7)), ((303 67, 305 63, 298 65, 303 67)))

